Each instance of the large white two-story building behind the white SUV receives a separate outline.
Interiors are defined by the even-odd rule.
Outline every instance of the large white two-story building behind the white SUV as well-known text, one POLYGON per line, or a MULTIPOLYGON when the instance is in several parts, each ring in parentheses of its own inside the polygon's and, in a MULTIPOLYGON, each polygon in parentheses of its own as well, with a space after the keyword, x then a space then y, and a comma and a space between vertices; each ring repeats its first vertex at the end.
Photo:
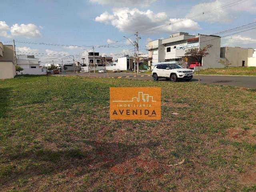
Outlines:
POLYGON ((186 50, 191 48, 204 48, 211 44, 209 55, 202 60, 202 68, 220 67, 220 36, 189 35, 179 32, 171 34, 169 38, 154 40, 148 43, 148 66, 155 66, 162 62, 172 62, 189 66, 195 61, 190 56, 185 56, 186 50))

